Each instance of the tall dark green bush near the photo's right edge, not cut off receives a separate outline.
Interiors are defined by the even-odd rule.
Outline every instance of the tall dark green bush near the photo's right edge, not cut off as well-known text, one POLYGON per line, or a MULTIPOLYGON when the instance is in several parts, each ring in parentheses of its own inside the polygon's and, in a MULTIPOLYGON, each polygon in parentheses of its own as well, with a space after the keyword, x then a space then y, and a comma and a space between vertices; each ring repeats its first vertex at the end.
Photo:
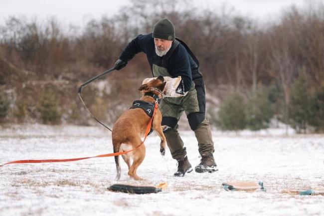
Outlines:
POLYGON ((307 125, 314 122, 315 100, 311 92, 310 77, 302 73, 293 83, 290 92, 289 124, 297 133, 306 132, 307 125))

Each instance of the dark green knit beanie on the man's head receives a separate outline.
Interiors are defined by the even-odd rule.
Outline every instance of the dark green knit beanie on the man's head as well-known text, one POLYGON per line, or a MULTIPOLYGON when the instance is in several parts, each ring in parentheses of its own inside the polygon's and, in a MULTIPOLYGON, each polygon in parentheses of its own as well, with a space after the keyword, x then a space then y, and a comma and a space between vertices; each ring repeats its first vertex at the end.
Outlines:
POLYGON ((153 29, 154 38, 160 38, 164 40, 174 40, 174 26, 173 23, 167 18, 160 19, 155 25, 153 29))

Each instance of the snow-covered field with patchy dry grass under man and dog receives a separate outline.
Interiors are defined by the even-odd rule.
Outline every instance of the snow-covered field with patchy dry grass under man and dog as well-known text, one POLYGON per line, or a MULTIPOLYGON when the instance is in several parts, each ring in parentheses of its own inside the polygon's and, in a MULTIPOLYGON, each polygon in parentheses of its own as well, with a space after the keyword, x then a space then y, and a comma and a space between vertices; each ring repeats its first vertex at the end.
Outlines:
MULTIPOLYGON (((0 126, 0 164, 22 159, 64 159, 111 153, 111 136, 98 127, 0 126)), ((181 132, 192 166, 199 163, 191 131, 181 132)), ((324 187, 324 135, 283 130, 259 133, 213 132, 219 171, 173 177, 176 161, 160 155, 155 133, 146 141, 146 158, 129 179, 123 160, 116 182, 113 158, 0 168, 0 216, 323 216, 324 196, 281 194, 283 188, 324 187), (227 192, 226 181, 262 180, 267 192, 227 192), (158 194, 107 191, 115 183, 168 184, 158 194)))

